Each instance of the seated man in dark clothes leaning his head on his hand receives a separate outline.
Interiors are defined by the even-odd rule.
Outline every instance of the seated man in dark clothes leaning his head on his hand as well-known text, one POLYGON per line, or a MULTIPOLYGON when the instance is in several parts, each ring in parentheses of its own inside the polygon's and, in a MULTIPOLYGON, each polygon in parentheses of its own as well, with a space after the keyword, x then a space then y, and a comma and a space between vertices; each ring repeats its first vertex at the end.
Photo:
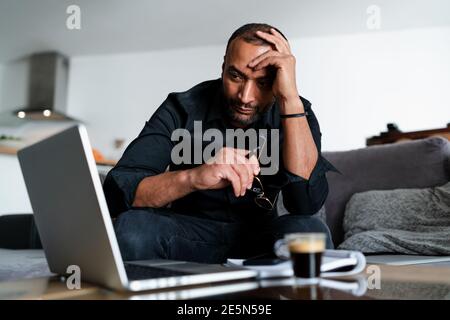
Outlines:
POLYGON ((272 252, 292 232, 325 232, 332 247, 328 228, 312 217, 334 169, 320 138, 286 38, 266 24, 242 26, 228 41, 221 79, 170 94, 109 172, 104 189, 123 258, 220 263, 272 252), (222 133, 279 129, 278 141, 267 139, 279 145, 276 174, 262 175, 255 155, 227 146, 201 164, 174 163, 172 133, 192 132, 194 121, 222 133), (216 161, 223 158, 235 161, 216 161), (289 214, 278 216, 280 191, 289 214))

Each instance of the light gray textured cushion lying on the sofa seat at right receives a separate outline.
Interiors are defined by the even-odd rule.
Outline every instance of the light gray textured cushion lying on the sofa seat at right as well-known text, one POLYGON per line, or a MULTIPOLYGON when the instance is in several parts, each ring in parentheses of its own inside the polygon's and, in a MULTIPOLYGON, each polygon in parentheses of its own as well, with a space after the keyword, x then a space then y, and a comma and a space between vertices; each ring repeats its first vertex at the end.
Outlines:
POLYGON ((345 209, 344 232, 339 249, 450 255, 450 182, 356 193, 345 209))

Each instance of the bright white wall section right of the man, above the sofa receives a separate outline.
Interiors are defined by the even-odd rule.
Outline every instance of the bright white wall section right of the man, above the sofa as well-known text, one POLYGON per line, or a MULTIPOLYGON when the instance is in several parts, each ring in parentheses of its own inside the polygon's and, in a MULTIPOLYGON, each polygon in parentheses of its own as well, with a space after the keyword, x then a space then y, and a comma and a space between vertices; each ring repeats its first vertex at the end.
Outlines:
POLYGON ((401 130, 450 121, 450 28, 299 39, 299 88, 315 105, 324 150, 365 146, 401 130))

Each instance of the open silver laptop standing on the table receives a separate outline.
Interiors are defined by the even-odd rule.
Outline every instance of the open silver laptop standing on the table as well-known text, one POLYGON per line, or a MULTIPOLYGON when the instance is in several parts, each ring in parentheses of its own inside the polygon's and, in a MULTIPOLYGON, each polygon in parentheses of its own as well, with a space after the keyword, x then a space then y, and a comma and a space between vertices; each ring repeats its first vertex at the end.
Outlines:
POLYGON ((75 265, 82 281, 127 291, 256 277, 253 270, 220 264, 124 262, 88 134, 81 124, 19 150, 18 158, 53 273, 68 274, 68 267, 75 265))

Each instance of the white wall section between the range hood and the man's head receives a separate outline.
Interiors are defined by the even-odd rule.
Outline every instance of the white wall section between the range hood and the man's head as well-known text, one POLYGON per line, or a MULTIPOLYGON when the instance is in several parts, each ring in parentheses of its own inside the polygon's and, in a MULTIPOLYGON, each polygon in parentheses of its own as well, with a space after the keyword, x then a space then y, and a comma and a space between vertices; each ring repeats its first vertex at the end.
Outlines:
POLYGON ((85 120, 94 147, 115 156, 173 91, 220 76, 222 47, 79 57, 71 60, 68 113, 85 120))

